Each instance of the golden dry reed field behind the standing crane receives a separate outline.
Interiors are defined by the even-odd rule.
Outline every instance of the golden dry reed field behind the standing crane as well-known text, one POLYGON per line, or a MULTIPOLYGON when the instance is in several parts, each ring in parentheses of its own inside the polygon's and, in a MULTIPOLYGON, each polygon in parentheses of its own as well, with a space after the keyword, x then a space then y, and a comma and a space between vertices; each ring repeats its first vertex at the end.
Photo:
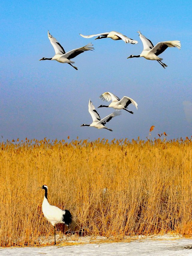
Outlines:
MULTIPOLYGON (((123 238, 185 232, 192 221, 192 139, 1 143, 1 246, 53 237, 41 204, 70 210, 65 233, 123 238)), ((191 227, 190 227, 191 229, 191 227)), ((64 230, 58 224, 57 231, 64 230)))

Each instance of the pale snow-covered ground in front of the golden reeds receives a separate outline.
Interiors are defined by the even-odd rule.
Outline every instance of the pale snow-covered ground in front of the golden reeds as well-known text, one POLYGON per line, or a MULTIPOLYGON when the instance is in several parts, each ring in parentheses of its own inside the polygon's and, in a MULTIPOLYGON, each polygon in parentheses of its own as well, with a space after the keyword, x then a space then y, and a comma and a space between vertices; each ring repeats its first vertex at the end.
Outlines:
POLYGON ((105 255, 192 255, 192 239, 176 237, 155 237, 147 239, 137 239, 131 242, 97 242, 81 243, 78 245, 40 246, 40 247, 0 247, 2 256, 37 256, 41 254, 49 255, 80 255, 80 256, 105 256, 105 255))

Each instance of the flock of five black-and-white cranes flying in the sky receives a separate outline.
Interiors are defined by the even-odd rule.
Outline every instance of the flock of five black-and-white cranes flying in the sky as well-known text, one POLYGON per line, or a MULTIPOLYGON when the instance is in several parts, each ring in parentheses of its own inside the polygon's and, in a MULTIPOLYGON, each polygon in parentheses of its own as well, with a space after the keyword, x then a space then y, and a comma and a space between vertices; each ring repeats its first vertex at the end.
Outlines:
MULTIPOLYGON (((156 44, 155 46, 152 44, 152 42, 147 39, 144 35, 141 34, 140 31, 138 31, 139 33, 139 37, 143 43, 143 51, 140 55, 130 55, 127 59, 129 58, 139 58, 139 57, 144 57, 145 59, 149 59, 149 60, 156 60, 158 61, 161 66, 163 68, 166 68, 167 65, 165 63, 162 62, 162 58, 158 57, 158 55, 160 55, 161 53, 163 53, 168 47, 177 47, 178 49, 181 49, 181 43, 180 41, 165 41, 165 42, 159 42, 158 44, 156 44)), ((119 33, 119 32, 115 32, 115 31, 111 31, 111 32, 105 32, 105 33, 101 33, 101 34, 95 34, 95 35, 82 35, 79 34, 80 36, 82 36, 83 38, 92 38, 95 36, 98 36, 95 39, 102 39, 102 38, 111 38, 113 40, 123 40, 126 44, 130 43, 130 44, 138 44, 138 41, 133 40, 131 38, 128 38, 127 36, 119 33)), ((59 44, 59 42, 57 41, 56 38, 54 38, 48 30, 48 38, 55 50, 55 55, 52 58, 45 58, 43 57, 40 60, 56 60, 58 62, 61 63, 68 63, 70 66, 72 66, 73 68, 75 68, 76 70, 78 70, 75 66, 73 66, 72 64, 74 64, 74 61, 71 61, 70 59, 75 58, 77 55, 79 55, 80 53, 83 53, 85 51, 92 51, 94 50, 93 45, 91 43, 71 50, 69 52, 65 52, 64 48, 61 46, 61 44, 59 44)), ((106 101, 111 101, 111 104, 109 106, 105 106, 105 105, 101 105, 99 107, 113 107, 114 109, 116 109, 116 111, 114 111, 113 113, 111 113, 110 115, 104 117, 103 119, 100 118, 98 112, 96 111, 93 103, 91 102, 91 100, 89 99, 89 103, 88 103, 88 111, 93 119, 93 122, 90 125, 86 125, 86 124, 82 124, 81 126, 90 126, 90 127, 95 127, 98 129, 102 129, 105 128, 109 131, 112 131, 112 129, 109 129, 105 126, 105 124, 107 122, 109 122, 113 117, 115 116, 119 116, 121 114, 121 109, 124 109, 126 111, 128 111, 129 113, 133 114, 132 111, 128 110, 128 106, 129 104, 133 104, 136 108, 137 108, 137 103, 127 97, 124 96, 121 100, 114 95, 111 92, 104 92, 101 96, 101 99, 106 100, 106 101)))

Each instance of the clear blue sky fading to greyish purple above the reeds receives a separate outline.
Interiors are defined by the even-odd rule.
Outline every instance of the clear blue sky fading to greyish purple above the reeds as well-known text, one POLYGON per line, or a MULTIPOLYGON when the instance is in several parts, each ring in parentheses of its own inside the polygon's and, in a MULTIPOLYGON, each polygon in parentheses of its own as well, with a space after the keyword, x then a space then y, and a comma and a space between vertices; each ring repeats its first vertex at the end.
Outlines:
MULTIPOLYGON (((191 1, 2 1, 0 16, 0 135, 3 140, 80 139, 98 137, 145 139, 166 132, 168 139, 192 135, 191 1), (51 58, 55 52, 47 30, 69 51, 92 42, 95 51, 77 56, 74 68, 51 58), (143 50, 137 31, 155 45, 179 40, 181 50, 168 48, 158 62, 127 59, 143 50), (109 38, 79 36, 118 31, 138 40, 125 44, 109 38), (113 118, 106 129, 90 124, 88 101, 112 92, 138 103, 113 118)), ((105 102, 107 103, 107 102, 105 102)), ((107 104, 106 104, 107 105, 107 104)), ((101 118, 113 108, 99 108, 101 118)))

